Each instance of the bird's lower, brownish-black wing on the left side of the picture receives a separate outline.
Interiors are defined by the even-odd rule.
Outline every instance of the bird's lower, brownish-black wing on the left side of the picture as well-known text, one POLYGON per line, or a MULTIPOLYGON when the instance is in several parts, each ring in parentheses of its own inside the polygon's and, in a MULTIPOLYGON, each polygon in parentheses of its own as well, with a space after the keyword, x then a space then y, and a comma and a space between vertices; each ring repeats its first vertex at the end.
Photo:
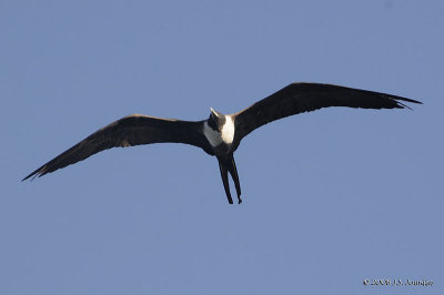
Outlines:
POLYGON ((209 146, 202 133, 202 121, 189 122, 141 114, 128 115, 94 132, 26 176, 22 181, 31 176, 40 177, 115 146, 125 148, 139 144, 178 142, 196 145, 211 153, 211 146, 209 146))

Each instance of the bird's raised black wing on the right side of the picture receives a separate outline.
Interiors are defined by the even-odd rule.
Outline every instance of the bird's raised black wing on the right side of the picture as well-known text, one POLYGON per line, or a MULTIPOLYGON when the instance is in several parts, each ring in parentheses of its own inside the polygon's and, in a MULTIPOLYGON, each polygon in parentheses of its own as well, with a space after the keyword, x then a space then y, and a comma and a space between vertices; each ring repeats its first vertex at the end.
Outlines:
POLYGON ((396 95, 319 83, 292 83, 250 108, 234 114, 239 142, 250 132, 272 121, 329 106, 363 109, 408 108, 400 101, 421 103, 396 95))

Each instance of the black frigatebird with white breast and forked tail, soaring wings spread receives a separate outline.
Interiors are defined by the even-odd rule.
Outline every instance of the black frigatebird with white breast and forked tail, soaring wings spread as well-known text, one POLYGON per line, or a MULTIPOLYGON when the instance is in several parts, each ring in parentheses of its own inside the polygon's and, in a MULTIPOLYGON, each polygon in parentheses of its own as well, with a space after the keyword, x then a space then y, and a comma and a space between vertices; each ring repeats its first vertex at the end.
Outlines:
POLYGON ((241 185, 233 153, 241 140, 256 128, 289 115, 329 106, 410 109, 402 101, 422 103, 392 94, 332 84, 292 83, 238 113, 224 115, 211 109, 210 118, 203 121, 131 114, 94 132, 22 181, 31 176, 40 177, 114 146, 176 142, 199 146, 208 154, 215 155, 229 203, 233 203, 228 179, 230 172, 241 204, 241 185))

